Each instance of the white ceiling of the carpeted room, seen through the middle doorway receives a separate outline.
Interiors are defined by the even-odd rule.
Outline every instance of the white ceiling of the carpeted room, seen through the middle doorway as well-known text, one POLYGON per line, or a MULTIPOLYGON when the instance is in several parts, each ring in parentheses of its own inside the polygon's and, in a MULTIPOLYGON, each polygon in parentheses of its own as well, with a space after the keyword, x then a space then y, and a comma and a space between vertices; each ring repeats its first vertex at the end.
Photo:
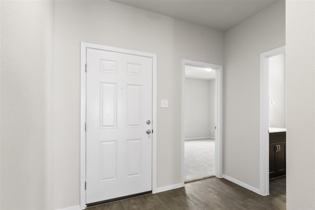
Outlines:
POLYGON ((185 66, 185 77, 211 80, 216 78, 216 71, 206 71, 205 68, 201 67, 185 66))

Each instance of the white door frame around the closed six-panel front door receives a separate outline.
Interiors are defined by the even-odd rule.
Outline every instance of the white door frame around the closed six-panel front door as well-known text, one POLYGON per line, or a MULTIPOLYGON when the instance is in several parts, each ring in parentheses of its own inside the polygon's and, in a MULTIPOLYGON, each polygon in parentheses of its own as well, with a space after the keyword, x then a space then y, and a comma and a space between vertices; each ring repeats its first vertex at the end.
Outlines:
POLYGON ((87 48, 152 58, 152 193, 157 192, 157 55, 81 42, 81 110, 80 110, 80 207, 86 208, 86 58, 87 48))

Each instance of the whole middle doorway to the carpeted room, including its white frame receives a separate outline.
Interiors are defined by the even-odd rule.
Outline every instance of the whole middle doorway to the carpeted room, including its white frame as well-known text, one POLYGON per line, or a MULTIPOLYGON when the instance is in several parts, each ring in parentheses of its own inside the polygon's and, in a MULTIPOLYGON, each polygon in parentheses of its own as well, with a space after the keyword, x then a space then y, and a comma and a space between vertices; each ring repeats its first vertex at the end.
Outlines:
POLYGON ((183 60, 182 183, 222 177, 222 67, 183 60))

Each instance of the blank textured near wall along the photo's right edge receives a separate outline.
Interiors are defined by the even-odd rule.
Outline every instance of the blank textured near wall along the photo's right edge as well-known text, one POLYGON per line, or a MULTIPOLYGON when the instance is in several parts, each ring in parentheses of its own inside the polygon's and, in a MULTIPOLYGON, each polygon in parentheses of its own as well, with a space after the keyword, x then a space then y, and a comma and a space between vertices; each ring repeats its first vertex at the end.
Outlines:
POLYGON ((286 0, 286 207, 315 209, 315 1, 286 0))

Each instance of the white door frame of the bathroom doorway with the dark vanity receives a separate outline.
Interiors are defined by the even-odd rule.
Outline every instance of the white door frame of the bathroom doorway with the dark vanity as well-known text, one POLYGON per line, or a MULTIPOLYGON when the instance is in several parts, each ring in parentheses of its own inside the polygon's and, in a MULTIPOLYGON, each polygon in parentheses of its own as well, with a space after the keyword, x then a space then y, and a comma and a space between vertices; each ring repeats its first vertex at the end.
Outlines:
POLYGON ((285 46, 260 54, 259 194, 269 195, 269 67, 268 58, 285 52, 285 46))

